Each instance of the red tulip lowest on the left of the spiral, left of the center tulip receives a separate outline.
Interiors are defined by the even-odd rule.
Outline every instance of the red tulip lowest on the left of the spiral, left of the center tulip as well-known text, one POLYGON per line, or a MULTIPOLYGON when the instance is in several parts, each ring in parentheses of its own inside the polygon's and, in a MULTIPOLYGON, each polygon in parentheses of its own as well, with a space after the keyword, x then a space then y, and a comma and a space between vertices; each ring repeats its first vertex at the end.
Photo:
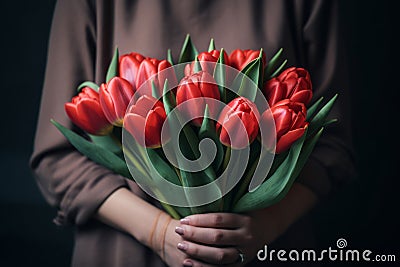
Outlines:
POLYGON ((152 96, 141 96, 124 119, 124 127, 144 147, 161 146, 161 130, 167 115, 164 105, 152 96))

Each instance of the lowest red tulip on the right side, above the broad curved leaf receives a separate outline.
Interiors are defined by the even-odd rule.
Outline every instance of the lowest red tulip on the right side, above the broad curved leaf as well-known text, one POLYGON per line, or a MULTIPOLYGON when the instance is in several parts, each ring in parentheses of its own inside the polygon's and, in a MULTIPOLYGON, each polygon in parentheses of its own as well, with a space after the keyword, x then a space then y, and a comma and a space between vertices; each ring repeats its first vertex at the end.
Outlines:
MULTIPOLYGON (((284 99, 275 104, 271 110, 265 111, 261 116, 261 125, 268 125, 271 116, 275 121, 276 147, 275 153, 282 153, 299 139, 305 132, 307 110, 303 103, 284 99)), ((261 127, 262 127, 261 126, 261 127)), ((263 129, 268 131, 268 129, 263 129)), ((263 142, 272 149, 271 136, 263 136, 263 142)))

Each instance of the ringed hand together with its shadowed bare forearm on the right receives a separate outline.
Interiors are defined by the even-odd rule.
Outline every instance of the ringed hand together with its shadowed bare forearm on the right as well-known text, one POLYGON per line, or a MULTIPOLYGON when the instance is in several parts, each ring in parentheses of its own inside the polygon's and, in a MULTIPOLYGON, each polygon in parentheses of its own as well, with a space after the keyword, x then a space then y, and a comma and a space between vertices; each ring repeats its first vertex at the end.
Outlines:
POLYGON ((175 232, 184 266, 244 266, 264 245, 278 238, 315 203, 316 197, 294 184, 279 203, 245 215, 209 213, 188 216, 175 232), (242 260, 243 259, 243 260, 242 260))

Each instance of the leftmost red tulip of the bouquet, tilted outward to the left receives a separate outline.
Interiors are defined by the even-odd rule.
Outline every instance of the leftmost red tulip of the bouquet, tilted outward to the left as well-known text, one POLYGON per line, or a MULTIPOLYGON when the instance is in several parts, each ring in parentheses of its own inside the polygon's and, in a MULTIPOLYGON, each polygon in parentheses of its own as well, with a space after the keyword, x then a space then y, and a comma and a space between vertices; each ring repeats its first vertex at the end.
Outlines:
POLYGON ((70 103, 65 104, 65 112, 79 128, 93 135, 107 135, 113 126, 101 109, 99 94, 85 87, 70 103))

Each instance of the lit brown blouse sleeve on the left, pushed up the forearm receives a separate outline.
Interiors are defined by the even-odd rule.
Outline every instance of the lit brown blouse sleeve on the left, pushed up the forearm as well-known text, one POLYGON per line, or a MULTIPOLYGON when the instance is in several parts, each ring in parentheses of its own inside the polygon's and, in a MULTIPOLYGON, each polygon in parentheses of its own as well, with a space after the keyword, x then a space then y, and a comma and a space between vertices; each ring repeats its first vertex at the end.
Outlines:
POLYGON ((58 208, 57 224, 84 224, 124 177, 77 152, 50 123, 72 128, 64 103, 78 84, 94 80, 96 60, 95 3, 59 0, 50 34, 47 68, 30 166, 46 200, 58 208))

